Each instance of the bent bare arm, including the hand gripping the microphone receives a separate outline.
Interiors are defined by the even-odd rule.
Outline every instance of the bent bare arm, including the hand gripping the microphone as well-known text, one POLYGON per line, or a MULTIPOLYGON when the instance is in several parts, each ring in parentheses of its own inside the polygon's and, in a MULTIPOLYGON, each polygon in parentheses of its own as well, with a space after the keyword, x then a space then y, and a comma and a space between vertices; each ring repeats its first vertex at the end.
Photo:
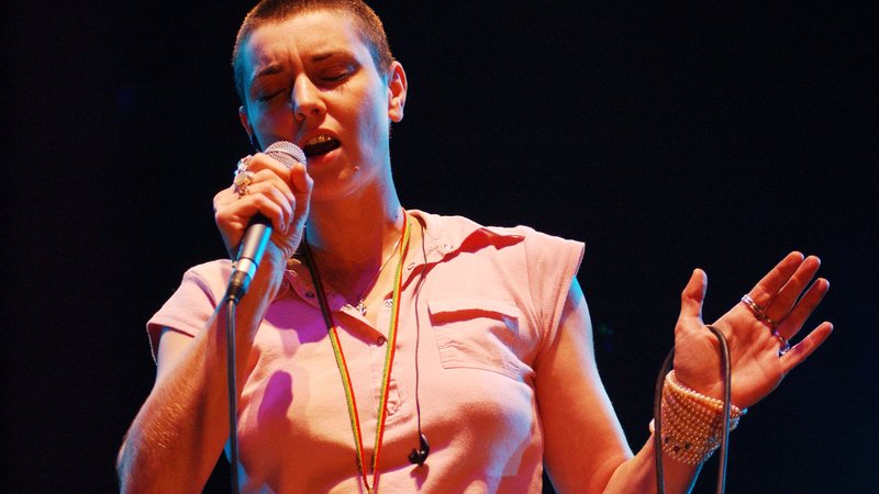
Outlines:
MULTIPOLYGON (((311 193, 311 179, 301 165, 288 170, 260 154, 249 167, 254 175, 245 193, 230 188, 214 198, 216 223, 230 250, 257 212, 275 227, 248 295, 236 311, 238 393, 256 330, 302 237, 311 193)), ((155 384, 119 452, 122 492, 203 489, 230 433, 224 305, 218 305, 194 338, 163 332, 155 384)))

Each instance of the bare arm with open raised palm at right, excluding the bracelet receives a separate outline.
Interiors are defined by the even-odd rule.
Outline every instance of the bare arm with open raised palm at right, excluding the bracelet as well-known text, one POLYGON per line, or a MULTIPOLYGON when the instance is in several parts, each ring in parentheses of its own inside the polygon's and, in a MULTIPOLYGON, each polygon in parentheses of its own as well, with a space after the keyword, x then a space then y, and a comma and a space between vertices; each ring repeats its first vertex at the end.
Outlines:
MULTIPOLYGON (((793 338, 826 293, 819 279, 805 290, 820 262, 798 252, 787 256, 749 292, 764 319, 737 304, 714 326, 728 340, 733 362, 732 402, 746 408, 771 392, 830 335, 822 323, 789 351, 793 338), (800 296, 805 290, 805 293, 800 296), (768 322, 767 322, 768 319, 768 322)), ((706 278, 696 270, 681 295, 675 329, 678 380, 712 398, 722 396, 717 341, 701 319, 706 278)), ((575 281, 556 340, 537 368, 537 400, 546 437, 545 460, 554 486, 567 492, 655 492, 653 437, 632 454, 601 384, 592 349, 589 311, 575 281)), ((645 402, 645 406, 646 406, 645 402)), ((681 427, 689 425, 682 424, 681 427)), ((701 464, 663 452, 666 492, 688 492, 701 464)))

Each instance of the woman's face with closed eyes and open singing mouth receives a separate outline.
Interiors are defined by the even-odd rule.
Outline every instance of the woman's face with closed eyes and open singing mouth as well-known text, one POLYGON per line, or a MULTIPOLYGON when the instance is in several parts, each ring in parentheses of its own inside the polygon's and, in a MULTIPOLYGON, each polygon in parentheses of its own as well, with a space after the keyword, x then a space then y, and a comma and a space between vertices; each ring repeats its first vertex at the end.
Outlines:
POLYGON ((242 124, 265 148, 289 141, 308 157, 312 199, 390 179, 390 122, 403 115, 405 74, 377 70, 347 15, 308 12, 256 29, 243 53, 242 124))

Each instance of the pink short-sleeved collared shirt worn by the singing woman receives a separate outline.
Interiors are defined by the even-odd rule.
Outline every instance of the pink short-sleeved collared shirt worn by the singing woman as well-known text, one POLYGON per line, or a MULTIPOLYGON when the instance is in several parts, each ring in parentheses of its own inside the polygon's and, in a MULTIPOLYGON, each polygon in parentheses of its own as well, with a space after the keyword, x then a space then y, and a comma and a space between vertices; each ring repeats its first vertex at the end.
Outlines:
MULTIPOLYGON (((556 335, 582 244, 525 226, 482 227, 459 216, 409 213, 424 225, 426 261, 414 252, 403 265, 378 490, 539 493, 543 434, 534 367, 556 335), (416 391, 431 445, 423 467, 408 461, 419 444, 416 391)), ((163 326, 201 330, 229 274, 227 260, 185 274, 147 324, 154 351, 163 326)), ((257 333, 240 402, 244 491, 365 492, 344 388, 308 270, 296 266, 285 279, 257 333)), ((370 458, 391 294, 372 327, 332 287, 326 293, 370 458)))

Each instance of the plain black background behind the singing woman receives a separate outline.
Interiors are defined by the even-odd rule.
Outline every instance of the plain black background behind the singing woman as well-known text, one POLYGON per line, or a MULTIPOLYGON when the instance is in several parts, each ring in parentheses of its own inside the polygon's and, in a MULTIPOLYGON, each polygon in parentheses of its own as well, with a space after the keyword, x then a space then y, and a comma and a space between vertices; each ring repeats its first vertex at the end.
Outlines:
MULTIPOLYGON (((229 69, 249 2, 57 3, 0 8, 2 491, 113 492, 154 375, 144 323, 224 255, 211 199, 249 151, 229 69)), ((712 319, 789 250, 820 255, 832 290, 810 327, 837 330, 742 422, 727 489, 879 492, 867 2, 610 3, 375 2, 410 80, 404 206, 586 242, 633 448, 690 271, 712 319)))

